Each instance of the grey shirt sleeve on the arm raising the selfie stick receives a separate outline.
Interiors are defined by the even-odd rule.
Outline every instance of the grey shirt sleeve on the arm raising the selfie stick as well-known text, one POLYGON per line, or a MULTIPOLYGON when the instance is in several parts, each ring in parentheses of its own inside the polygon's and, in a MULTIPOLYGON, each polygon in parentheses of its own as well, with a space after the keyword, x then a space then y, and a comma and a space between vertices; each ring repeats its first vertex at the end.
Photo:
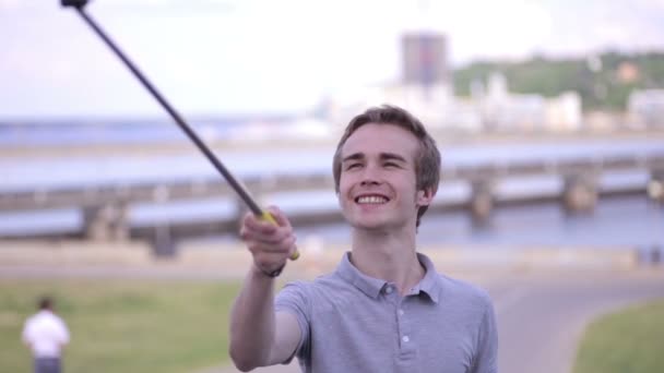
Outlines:
POLYGON ((305 282, 289 282, 276 294, 274 311, 277 313, 288 312, 295 315, 300 330, 300 338, 297 348, 295 349, 295 353, 284 361, 284 364, 289 363, 295 356, 306 358, 309 353, 310 310, 307 285, 305 282))

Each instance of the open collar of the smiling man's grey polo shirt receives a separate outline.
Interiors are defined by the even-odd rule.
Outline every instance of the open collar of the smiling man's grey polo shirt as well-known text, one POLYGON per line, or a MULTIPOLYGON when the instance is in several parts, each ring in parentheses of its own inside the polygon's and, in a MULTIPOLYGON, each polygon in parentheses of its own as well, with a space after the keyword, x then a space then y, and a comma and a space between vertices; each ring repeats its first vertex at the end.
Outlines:
MULTIPOLYGON (((428 256, 417 253, 417 260, 425 267, 426 273, 424 278, 415 286, 415 290, 426 293, 431 301, 438 303, 440 293, 442 292, 442 280, 440 276, 438 276, 438 273, 436 273, 436 267, 428 256)), ((374 299, 378 299, 380 291, 388 284, 386 280, 369 277, 359 272, 359 269, 351 263, 349 252, 344 254, 341 263, 336 267, 336 273, 343 279, 374 299)))

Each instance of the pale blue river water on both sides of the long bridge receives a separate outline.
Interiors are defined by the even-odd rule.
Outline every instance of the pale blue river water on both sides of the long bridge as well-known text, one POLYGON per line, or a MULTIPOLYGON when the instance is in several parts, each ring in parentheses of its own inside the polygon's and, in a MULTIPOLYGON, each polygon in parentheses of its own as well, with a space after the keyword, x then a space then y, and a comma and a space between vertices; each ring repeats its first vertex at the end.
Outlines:
MULTIPOLYGON (((199 125, 206 125, 199 123, 199 125)), ((218 133, 229 135, 256 132, 251 123, 227 127, 211 124, 218 133), (226 131, 226 132, 223 132, 226 131), (239 132, 238 132, 239 131, 239 132)), ((260 125, 265 125, 264 123, 260 125)), ((271 124, 273 125, 273 124, 271 124)), ((274 124, 276 125, 276 124, 274 124)), ((201 128, 202 128, 201 127, 201 128)), ((208 132, 209 134, 212 132, 208 132)), ((21 144, 76 144, 161 142, 182 139, 173 125, 45 125, 10 128, 0 125, 0 147, 21 144), (8 135, 9 134, 9 135, 8 135)), ((193 145, 192 145, 193 146, 193 145)), ((481 165, 487 161, 514 163, 531 159, 555 160, 579 156, 614 157, 645 156, 664 152, 659 140, 617 140, 592 142, 562 142, 543 144, 479 144, 444 146, 443 172, 458 166, 481 165)), ((333 148, 263 152, 220 152, 217 156, 239 178, 276 173, 329 175, 333 148)), ((47 190, 75 185, 132 184, 154 181, 214 180, 216 170, 200 155, 168 156, 98 156, 66 158, 4 158, 0 159, 0 193, 15 190, 47 190)), ((644 171, 614 172, 602 176, 600 188, 614 190, 642 186, 648 182, 644 171)), ((562 188, 558 177, 513 178, 496 185, 499 201, 524 195, 556 195, 562 188)), ((465 201, 470 188, 465 183, 449 182, 441 186, 439 203, 465 201)), ((277 204, 286 213, 303 209, 334 209, 333 191, 283 193, 264 196, 261 204, 277 204)), ((212 198, 166 204, 137 204, 130 210, 133 226, 155 221, 210 220, 233 216, 235 201, 212 198)), ((80 212, 59 209, 50 212, 0 213, 0 233, 29 234, 36 231, 74 230, 81 226, 80 212)), ((347 229, 343 225, 298 229, 301 234, 320 234, 325 240, 345 242, 347 229)), ((537 204, 495 210, 490 222, 482 228, 473 225, 465 213, 446 213, 427 216, 418 234, 423 243, 477 245, 643 245, 664 244, 664 216, 645 196, 602 200, 592 215, 567 216, 558 204, 537 204)))

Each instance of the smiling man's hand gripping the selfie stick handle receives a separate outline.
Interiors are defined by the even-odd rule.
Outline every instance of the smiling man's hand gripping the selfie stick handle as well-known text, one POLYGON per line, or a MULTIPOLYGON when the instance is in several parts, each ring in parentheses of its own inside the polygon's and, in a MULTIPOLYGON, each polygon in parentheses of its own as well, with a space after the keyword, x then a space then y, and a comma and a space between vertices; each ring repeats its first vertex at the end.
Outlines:
POLYGON ((274 206, 268 210, 276 220, 276 226, 247 213, 240 227, 240 238, 251 252, 256 268, 263 274, 282 268, 296 251, 295 233, 286 216, 274 206))

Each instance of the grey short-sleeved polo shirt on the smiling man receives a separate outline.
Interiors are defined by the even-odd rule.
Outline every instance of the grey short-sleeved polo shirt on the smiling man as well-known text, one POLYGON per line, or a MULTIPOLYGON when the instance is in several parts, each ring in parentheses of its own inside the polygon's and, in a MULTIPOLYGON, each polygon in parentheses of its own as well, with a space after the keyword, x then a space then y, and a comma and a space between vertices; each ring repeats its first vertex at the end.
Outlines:
POLYGON ((276 311, 293 313, 301 330, 303 372, 497 372, 488 294, 417 255, 426 275, 405 297, 361 274, 348 253, 332 274, 280 291, 276 311))

